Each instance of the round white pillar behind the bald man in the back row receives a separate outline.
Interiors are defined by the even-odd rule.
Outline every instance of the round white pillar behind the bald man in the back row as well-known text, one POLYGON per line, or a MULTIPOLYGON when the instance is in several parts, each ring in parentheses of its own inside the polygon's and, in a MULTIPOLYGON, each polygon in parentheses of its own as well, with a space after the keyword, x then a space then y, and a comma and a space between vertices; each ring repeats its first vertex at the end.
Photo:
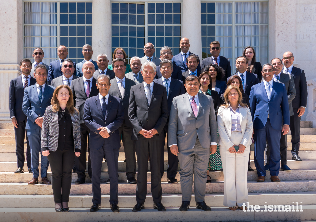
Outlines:
POLYGON ((190 40, 189 51, 202 58, 201 0, 183 0, 182 38, 190 40))

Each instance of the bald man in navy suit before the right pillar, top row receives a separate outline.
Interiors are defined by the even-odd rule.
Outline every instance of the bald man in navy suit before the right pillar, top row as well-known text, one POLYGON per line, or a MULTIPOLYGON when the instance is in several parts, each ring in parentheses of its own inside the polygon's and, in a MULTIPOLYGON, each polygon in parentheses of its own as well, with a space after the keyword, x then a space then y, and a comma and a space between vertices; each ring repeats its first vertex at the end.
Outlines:
MULTIPOLYGON (((173 65, 177 65, 180 66, 181 71, 185 72, 188 71, 189 68, 186 64, 186 58, 192 54, 192 52, 189 51, 190 48, 190 40, 187 38, 183 38, 180 40, 180 48, 181 48, 181 52, 178 55, 175 55, 172 58, 172 64, 173 65)), ((193 53, 195 54, 195 53, 193 53)), ((196 55, 196 54, 195 54, 196 55)), ((198 58, 198 55, 197 55, 198 58)), ((198 58, 198 66, 197 66, 197 71, 201 72, 201 63, 200 63, 200 59, 198 58)))

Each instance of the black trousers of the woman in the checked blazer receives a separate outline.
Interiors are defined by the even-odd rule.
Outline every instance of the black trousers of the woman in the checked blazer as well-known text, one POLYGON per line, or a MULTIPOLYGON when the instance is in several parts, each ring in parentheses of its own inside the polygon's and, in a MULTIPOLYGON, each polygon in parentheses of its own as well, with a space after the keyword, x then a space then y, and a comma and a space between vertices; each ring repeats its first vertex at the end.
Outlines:
POLYGON ((75 151, 49 151, 48 161, 52 170, 52 189, 55 203, 68 202, 71 188, 71 171, 75 151))

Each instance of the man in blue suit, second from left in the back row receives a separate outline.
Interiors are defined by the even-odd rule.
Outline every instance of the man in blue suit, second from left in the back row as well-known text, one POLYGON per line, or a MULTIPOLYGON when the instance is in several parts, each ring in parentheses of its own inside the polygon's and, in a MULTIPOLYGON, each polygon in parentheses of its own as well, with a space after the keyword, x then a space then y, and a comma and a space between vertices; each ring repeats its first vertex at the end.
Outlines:
MULTIPOLYGON (((64 45, 59 45, 57 48, 57 55, 59 59, 52 61, 49 63, 49 69, 47 74, 47 83, 50 85, 52 80, 57 78, 58 76, 62 76, 63 73, 61 71, 61 65, 64 62, 64 59, 67 58, 68 49, 64 45)), ((74 66, 76 69, 76 63, 74 62, 74 66)), ((77 74, 76 74, 77 75, 77 74)))

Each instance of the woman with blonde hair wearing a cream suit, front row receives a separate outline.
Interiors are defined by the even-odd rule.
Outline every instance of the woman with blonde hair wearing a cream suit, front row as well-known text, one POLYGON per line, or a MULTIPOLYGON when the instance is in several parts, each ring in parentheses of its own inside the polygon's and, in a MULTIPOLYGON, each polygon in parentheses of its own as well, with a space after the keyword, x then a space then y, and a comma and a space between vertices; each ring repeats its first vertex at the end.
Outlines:
MULTIPOLYGON (((247 170, 252 136, 252 117, 248 106, 242 103, 240 89, 234 85, 224 93, 226 104, 217 114, 219 150, 224 172, 224 206, 230 210, 248 201, 247 170)), ((246 210, 246 207, 245 207, 246 210)))

